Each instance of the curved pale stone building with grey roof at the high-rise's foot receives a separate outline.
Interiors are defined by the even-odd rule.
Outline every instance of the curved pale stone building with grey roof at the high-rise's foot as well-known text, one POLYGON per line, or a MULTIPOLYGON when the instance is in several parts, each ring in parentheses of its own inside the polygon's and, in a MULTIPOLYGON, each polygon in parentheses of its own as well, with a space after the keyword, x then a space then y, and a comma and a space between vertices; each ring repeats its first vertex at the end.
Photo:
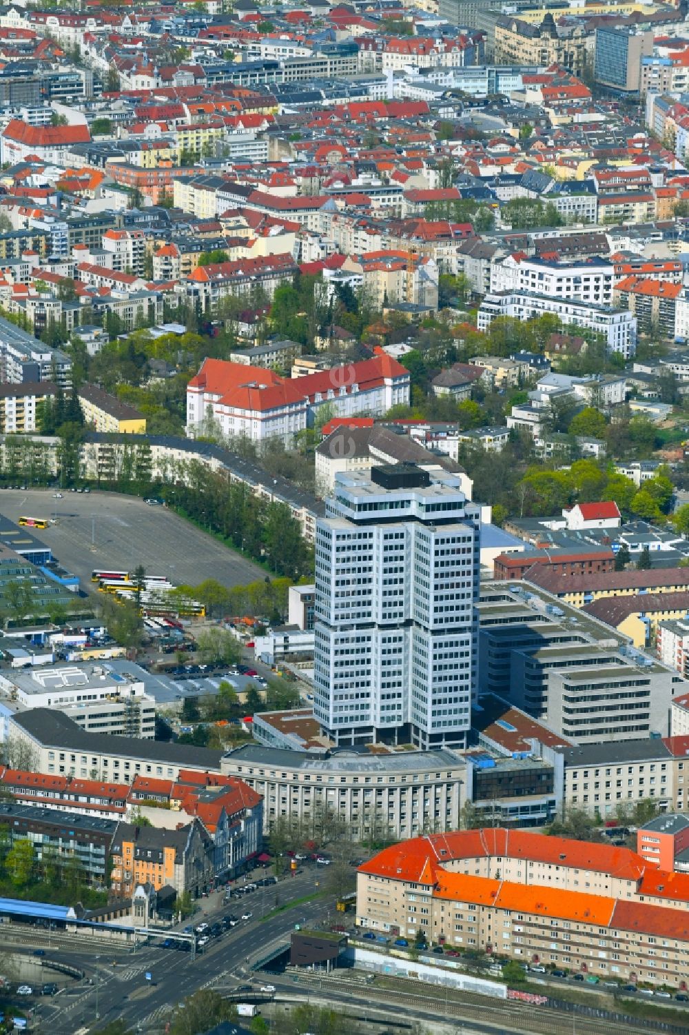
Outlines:
POLYGON ((244 744, 223 757, 222 772, 262 795, 265 832, 282 818, 306 837, 328 811, 357 840, 453 830, 466 800, 465 760, 449 748, 344 757, 244 744))

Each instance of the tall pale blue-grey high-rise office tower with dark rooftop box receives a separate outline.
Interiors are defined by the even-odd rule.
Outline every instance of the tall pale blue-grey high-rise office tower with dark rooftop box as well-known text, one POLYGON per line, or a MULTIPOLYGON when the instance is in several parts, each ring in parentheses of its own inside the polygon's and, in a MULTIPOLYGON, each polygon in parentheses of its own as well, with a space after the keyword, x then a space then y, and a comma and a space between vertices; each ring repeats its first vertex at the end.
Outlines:
POLYGON ((466 744, 479 525, 452 474, 336 476, 316 532, 313 712, 338 744, 466 744))

